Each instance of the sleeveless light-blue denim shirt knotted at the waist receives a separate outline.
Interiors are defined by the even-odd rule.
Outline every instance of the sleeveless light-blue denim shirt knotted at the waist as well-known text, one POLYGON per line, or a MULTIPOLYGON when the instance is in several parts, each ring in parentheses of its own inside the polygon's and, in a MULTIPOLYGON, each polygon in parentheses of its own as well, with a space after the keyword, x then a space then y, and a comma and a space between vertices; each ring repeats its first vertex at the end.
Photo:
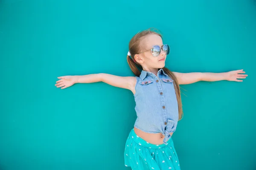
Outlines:
POLYGON ((169 133, 176 130, 178 122, 178 104, 173 80, 163 69, 157 76, 142 71, 135 85, 135 111, 137 119, 134 127, 146 133, 162 133, 163 143, 171 138, 169 133))

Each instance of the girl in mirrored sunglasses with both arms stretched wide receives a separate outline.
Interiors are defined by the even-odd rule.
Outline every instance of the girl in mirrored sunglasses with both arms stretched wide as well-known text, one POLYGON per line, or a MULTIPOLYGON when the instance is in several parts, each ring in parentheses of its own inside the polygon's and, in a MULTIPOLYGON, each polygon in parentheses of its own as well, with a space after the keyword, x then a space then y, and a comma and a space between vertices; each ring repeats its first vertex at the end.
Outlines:
POLYGON ((183 111, 179 85, 198 81, 237 81, 247 77, 243 70, 226 73, 177 73, 165 68, 169 45, 150 29, 134 35, 129 43, 127 62, 136 77, 111 74, 58 77, 57 88, 75 83, 105 82, 134 94, 137 120, 125 144, 125 166, 133 170, 180 170, 172 142, 183 111), (141 70, 141 71, 140 71, 141 70))

